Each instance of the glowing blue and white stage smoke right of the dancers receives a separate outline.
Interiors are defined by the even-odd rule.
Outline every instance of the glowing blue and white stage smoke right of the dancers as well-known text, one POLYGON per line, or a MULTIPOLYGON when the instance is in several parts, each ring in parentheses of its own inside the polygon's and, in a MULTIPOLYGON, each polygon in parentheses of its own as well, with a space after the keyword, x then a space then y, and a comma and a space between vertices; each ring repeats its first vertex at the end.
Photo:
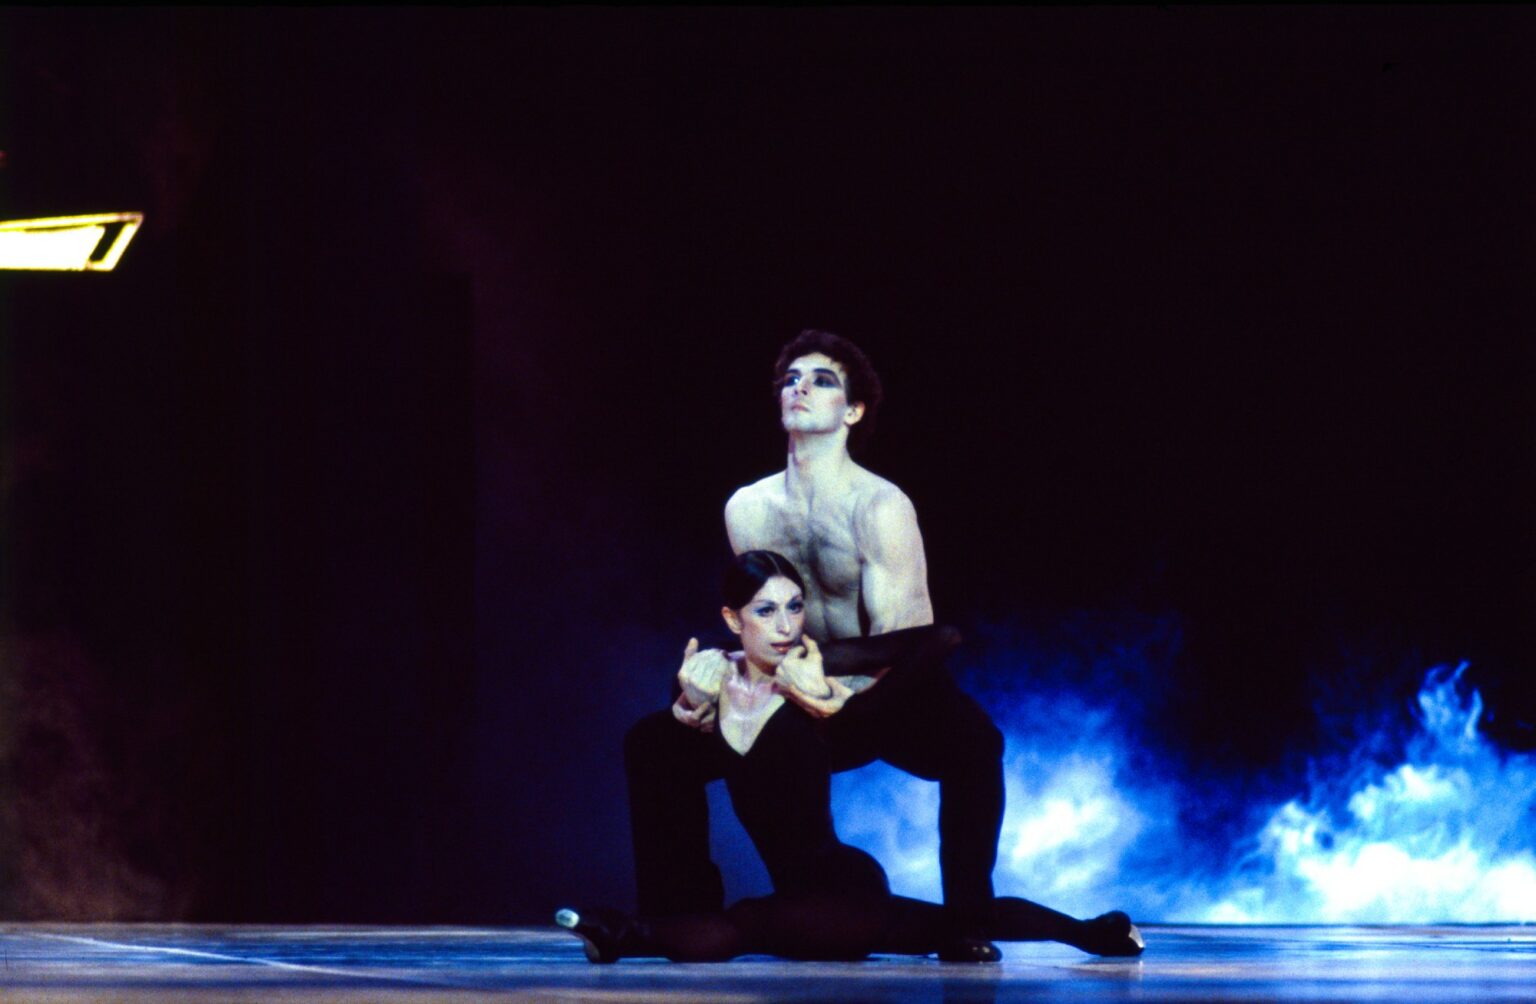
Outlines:
MULTIPOLYGON (((1135 683, 1177 629, 1081 626, 983 646, 1015 660, 1017 685, 985 686, 997 666, 963 672, 1008 740, 998 893, 1167 923, 1536 920, 1536 757, 1479 732, 1465 665, 1428 671, 1412 720, 1362 714, 1372 728, 1284 792, 1284 778, 1195 777, 1149 745, 1135 683)), ((937 784, 876 765, 837 777, 833 803, 897 892, 940 898, 937 784)))

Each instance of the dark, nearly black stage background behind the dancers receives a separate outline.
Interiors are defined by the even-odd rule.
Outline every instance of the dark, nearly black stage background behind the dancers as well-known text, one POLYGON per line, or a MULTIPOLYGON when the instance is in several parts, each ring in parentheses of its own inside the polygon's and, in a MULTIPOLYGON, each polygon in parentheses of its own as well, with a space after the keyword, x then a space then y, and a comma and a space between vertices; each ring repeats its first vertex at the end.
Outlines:
POLYGON ((1527 11, 0 45, 0 215, 147 212, 115 273, 0 281, 0 915, 627 900, 619 737, 713 631, 808 325, 886 379, 940 619, 1174 625, 1107 682, 1149 757, 1301 772, 1462 659, 1536 745, 1527 11))

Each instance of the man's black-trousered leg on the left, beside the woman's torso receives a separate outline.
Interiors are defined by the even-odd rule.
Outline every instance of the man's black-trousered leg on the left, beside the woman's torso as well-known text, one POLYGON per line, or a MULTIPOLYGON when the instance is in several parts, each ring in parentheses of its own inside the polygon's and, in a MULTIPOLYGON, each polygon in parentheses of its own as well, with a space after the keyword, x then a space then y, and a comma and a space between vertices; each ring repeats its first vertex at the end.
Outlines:
POLYGON ((662 709, 624 737, 630 832, 641 916, 725 909, 720 869, 710 860, 705 784, 722 777, 723 745, 662 709))

